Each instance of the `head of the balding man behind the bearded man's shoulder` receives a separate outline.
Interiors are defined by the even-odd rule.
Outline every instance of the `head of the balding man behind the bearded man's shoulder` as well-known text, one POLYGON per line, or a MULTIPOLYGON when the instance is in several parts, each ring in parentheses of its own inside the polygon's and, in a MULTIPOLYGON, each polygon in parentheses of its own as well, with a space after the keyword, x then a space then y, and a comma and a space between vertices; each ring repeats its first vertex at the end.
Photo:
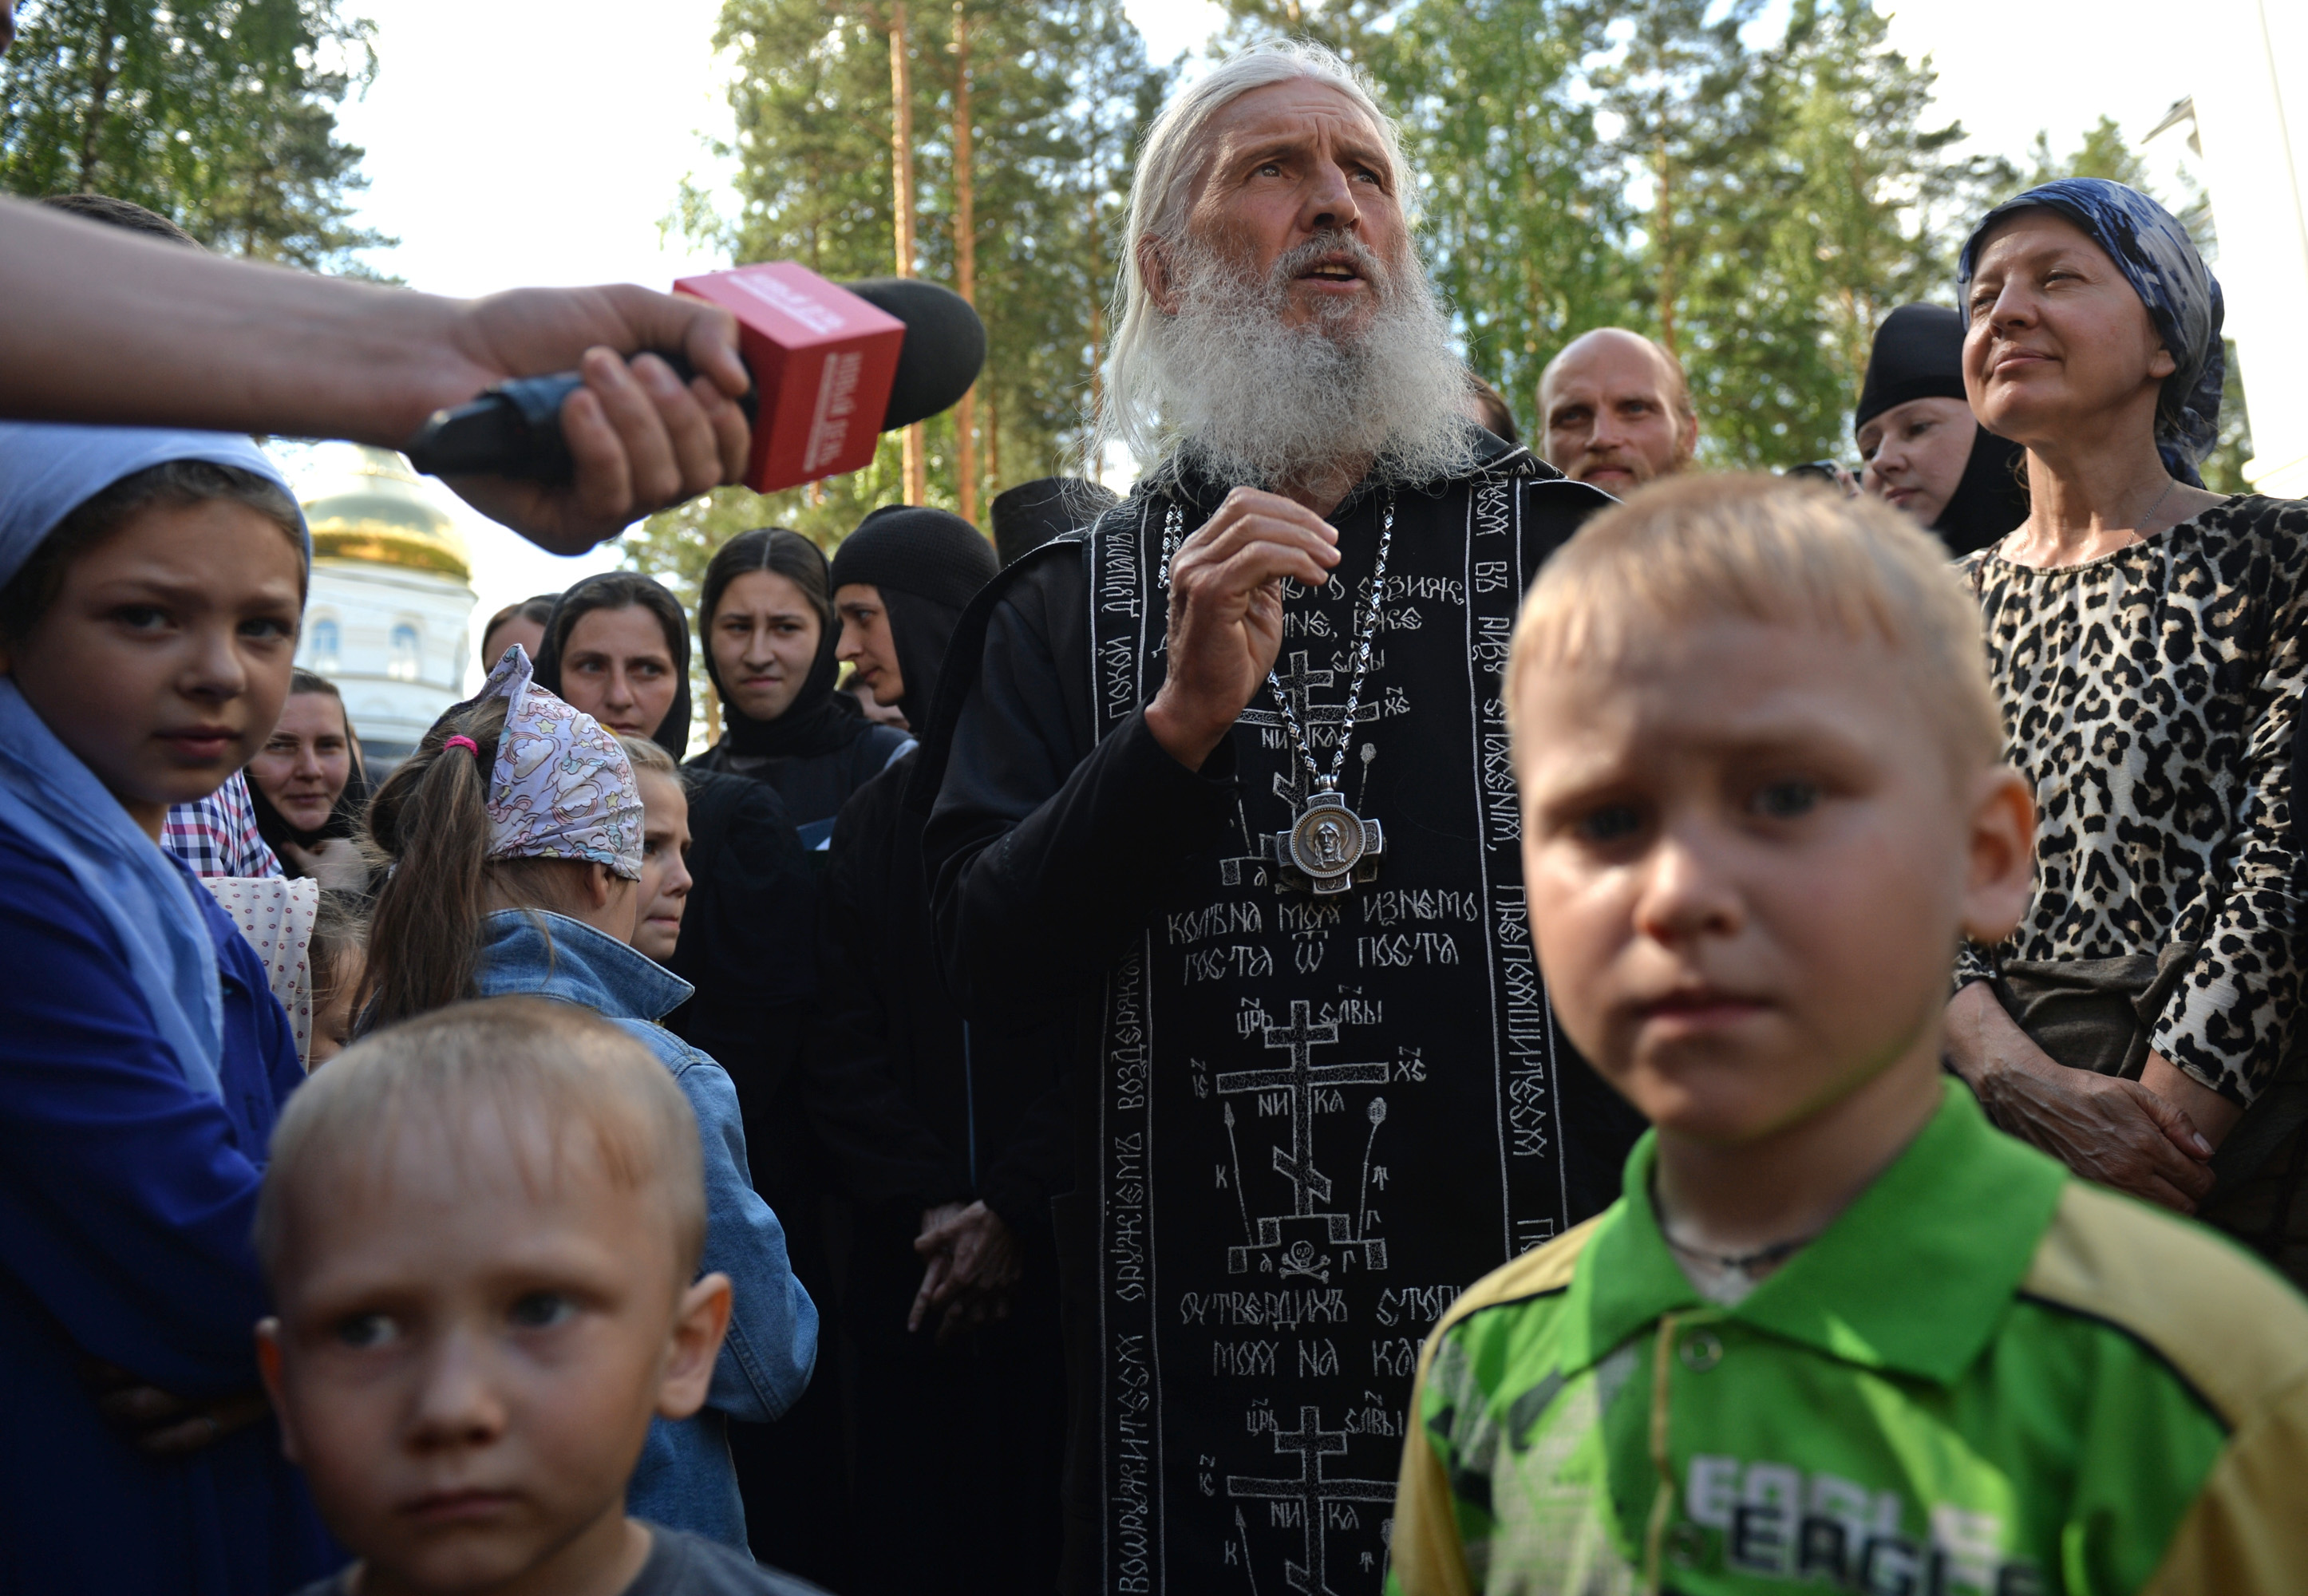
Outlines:
POLYGON ((1689 466, 1696 447, 1683 362, 1641 332, 1586 332, 1539 374, 1539 452, 1574 482, 1625 496, 1689 466))

